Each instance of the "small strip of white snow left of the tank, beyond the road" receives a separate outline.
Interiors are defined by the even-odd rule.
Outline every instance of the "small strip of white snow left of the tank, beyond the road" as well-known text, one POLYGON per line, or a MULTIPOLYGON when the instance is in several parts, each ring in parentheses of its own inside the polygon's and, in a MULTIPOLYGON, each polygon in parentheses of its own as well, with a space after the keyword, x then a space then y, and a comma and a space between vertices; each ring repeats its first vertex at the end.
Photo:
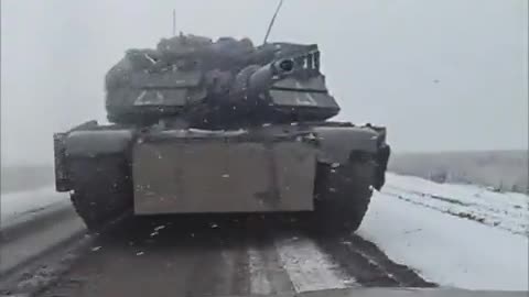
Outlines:
POLYGON ((9 226, 13 221, 21 221, 24 217, 30 218, 35 212, 60 204, 69 205, 69 198, 67 194, 56 193, 54 187, 2 194, 0 197, 0 224, 1 227, 9 226))

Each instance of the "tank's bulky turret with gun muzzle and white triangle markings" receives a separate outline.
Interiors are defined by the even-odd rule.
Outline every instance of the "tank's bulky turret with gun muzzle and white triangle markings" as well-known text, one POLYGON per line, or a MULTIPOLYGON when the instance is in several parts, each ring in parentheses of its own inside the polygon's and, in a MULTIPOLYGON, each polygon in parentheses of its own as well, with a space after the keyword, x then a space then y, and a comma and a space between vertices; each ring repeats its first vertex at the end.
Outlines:
POLYGON ((141 125, 169 117, 206 128, 321 120, 339 110, 316 45, 248 38, 181 34, 129 50, 108 72, 106 92, 111 122, 141 125))

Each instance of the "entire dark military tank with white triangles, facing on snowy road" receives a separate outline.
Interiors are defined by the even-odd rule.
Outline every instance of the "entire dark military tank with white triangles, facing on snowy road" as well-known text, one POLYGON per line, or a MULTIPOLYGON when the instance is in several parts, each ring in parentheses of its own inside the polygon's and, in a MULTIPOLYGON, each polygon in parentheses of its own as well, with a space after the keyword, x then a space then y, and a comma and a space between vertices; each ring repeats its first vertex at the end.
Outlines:
POLYGON ((316 44, 163 38, 106 76, 109 123, 54 134, 57 191, 89 230, 131 212, 309 213, 356 230, 385 183, 386 129, 339 112, 316 44))

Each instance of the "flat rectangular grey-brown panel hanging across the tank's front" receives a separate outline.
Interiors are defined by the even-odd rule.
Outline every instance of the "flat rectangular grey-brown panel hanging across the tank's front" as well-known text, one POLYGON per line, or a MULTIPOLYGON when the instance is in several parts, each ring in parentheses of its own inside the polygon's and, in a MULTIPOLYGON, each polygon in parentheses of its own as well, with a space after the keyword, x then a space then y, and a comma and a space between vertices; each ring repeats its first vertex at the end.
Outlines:
POLYGON ((138 142, 134 212, 313 210, 316 150, 306 143, 138 142))

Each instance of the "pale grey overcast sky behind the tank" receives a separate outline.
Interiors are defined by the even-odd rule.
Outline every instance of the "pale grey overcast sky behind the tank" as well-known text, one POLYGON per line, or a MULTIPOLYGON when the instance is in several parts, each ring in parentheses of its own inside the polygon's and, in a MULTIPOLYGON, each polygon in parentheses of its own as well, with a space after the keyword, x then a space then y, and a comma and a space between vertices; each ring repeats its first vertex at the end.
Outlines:
MULTIPOLYGON (((341 120, 396 151, 527 148, 527 0, 285 0, 272 41, 319 43, 341 120)), ((104 75, 185 33, 262 40, 271 0, 2 0, 2 162, 51 162, 52 133, 105 119, 104 75), (133 4, 132 4, 133 3, 133 4)))

